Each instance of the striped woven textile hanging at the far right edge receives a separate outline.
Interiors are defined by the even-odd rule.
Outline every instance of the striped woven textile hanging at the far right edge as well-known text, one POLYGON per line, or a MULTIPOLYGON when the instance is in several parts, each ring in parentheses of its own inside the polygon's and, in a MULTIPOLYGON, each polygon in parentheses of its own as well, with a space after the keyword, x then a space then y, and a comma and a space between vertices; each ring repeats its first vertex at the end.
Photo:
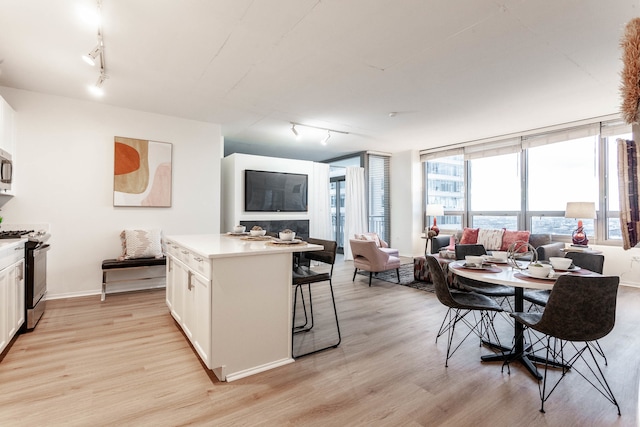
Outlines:
POLYGON ((640 206, 638 199, 638 147, 634 141, 618 139, 618 185, 620 197, 620 229, 622 247, 638 244, 640 206))

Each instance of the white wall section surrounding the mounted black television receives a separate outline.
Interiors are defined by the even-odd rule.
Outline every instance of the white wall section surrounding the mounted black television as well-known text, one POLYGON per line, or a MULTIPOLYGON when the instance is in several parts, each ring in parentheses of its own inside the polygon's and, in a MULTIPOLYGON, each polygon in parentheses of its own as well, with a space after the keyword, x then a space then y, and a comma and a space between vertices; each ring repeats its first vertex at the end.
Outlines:
MULTIPOLYGON (((245 169, 268 172, 301 173, 309 176, 308 188, 314 187, 313 162, 306 160, 280 159, 276 157, 231 154, 222 159, 222 230, 230 231, 240 221, 309 220, 313 212, 313 197, 308 197, 307 212, 245 212, 244 211, 244 171, 245 169)), ((309 232, 313 234, 313 224, 309 232)), ((275 231, 275 230, 269 230, 275 231)))

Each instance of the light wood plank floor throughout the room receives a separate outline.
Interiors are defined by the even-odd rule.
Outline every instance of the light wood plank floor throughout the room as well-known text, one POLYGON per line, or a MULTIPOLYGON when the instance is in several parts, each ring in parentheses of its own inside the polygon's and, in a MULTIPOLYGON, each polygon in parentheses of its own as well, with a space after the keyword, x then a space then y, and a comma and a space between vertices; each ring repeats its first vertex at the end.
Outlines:
POLYGON ((475 340, 444 367, 446 340, 434 340, 445 308, 434 294, 352 274, 336 264, 337 349, 231 383, 203 369, 163 290, 49 301, 0 363, 0 425, 638 425, 640 289, 620 288, 616 327, 601 340, 622 416, 574 373, 542 414, 536 381, 517 364, 508 375, 481 363, 489 350, 475 340))

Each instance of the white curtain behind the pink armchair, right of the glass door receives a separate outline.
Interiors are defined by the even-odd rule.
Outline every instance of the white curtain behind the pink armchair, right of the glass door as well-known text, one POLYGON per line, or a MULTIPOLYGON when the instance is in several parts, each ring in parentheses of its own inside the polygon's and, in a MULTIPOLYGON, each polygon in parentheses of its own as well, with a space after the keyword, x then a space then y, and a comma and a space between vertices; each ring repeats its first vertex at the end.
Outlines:
POLYGON ((344 197, 344 259, 352 260, 349 239, 356 233, 367 231, 367 210, 365 206, 364 168, 347 166, 345 173, 344 197))

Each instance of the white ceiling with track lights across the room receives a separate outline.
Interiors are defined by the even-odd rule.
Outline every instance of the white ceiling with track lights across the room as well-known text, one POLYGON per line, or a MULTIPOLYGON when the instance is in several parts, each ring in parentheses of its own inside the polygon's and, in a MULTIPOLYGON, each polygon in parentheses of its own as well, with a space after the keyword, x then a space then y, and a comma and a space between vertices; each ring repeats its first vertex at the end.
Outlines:
MULTIPOLYGON (((94 101, 94 0, 0 0, 0 86, 94 101)), ((102 0, 96 102, 222 125, 307 160, 424 149, 619 111, 638 0, 102 0), (395 117, 389 113, 397 112, 395 117), (349 132, 326 147, 289 122, 349 132)), ((140 135, 141 137, 143 135, 140 135)))

